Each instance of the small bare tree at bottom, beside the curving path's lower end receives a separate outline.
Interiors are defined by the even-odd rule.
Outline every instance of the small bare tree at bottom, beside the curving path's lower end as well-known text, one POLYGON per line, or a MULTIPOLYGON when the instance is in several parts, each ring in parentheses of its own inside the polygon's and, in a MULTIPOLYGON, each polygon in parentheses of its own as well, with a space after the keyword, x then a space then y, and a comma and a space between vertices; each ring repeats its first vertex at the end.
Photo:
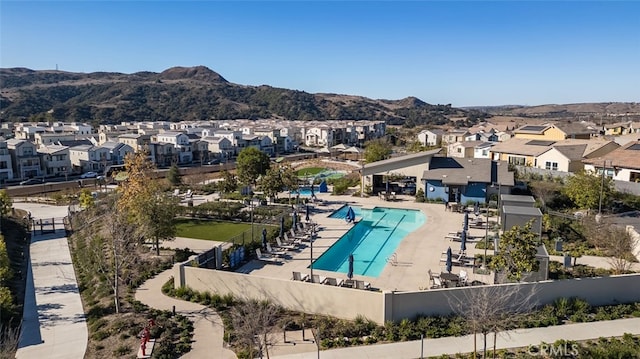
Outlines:
POLYGON ((280 309, 268 301, 249 300, 235 306, 231 312, 233 328, 241 344, 249 348, 250 357, 257 346, 258 354, 269 358, 269 347, 275 343, 273 329, 278 321, 280 309))

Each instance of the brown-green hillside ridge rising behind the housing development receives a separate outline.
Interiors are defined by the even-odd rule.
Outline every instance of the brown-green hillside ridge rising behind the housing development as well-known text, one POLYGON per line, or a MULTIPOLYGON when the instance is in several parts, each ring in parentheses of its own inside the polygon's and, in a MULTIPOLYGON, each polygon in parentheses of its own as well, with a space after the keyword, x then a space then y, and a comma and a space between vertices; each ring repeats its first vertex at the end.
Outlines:
POLYGON ((0 119, 60 121, 183 121, 205 119, 383 120, 416 126, 447 124, 449 117, 474 122, 477 111, 431 105, 415 97, 374 100, 311 94, 271 86, 230 83, 204 66, 161 73, 72 73, 0 69, 0 119))

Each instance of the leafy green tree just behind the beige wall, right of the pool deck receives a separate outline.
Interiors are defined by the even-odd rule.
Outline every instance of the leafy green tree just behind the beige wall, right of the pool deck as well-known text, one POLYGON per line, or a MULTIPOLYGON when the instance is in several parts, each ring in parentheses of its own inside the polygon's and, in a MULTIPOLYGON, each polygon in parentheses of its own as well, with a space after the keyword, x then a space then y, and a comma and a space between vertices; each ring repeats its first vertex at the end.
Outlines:
POLYGON ((491 260, 491 265, 503 271, 509 280, 520 281, 524 273, 535 272, 540 267, 536 259, 540 240, 531 231, 533 221, 530 220, 523 227, 513 226, 500 237, 498 253, 491 260))

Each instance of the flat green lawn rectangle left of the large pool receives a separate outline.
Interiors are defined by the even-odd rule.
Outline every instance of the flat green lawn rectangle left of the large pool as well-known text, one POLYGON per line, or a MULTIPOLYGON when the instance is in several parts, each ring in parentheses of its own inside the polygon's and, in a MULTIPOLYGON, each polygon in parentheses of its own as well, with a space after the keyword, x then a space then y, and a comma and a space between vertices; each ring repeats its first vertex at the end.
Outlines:
MULTIPOLYGON (((264 225, 253 225, 253 238, 260 240, 264 225)), ((217 222, 210 220, 179 219, 176 223, 176 237, 206 239, 208 241, 230 242, 232 238, 250 231, 249 223, 217 222)), ((250 233, 247 233, 251 237, 250 233)), ((249 239, 247 237, 247 240, 249 239)))

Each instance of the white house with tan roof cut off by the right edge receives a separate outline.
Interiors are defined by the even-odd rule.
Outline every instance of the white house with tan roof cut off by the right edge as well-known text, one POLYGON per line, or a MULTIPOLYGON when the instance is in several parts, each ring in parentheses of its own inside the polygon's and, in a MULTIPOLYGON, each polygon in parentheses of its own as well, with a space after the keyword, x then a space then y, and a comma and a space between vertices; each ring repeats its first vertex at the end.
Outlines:
POLYGON ((640 140, 629 142, 603 156, 583 161, 585 170, 618 181, 640 182, 640 140))

